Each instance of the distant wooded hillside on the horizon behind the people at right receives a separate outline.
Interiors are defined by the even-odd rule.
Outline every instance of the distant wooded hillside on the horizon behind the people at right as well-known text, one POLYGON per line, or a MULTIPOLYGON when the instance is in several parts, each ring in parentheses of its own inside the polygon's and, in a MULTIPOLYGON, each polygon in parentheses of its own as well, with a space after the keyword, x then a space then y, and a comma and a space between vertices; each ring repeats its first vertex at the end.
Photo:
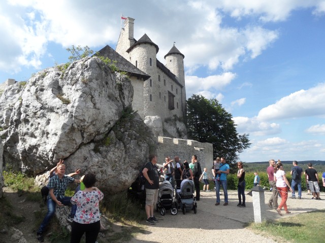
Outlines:
MULTIPOLYGON (((276 160, 277 161, 277 160, 276 160)), ((284 167, 284 171, 290 171, 291 167, 293 167, 293 161, 281 161, 284 167)), ((303 170, 308 169, 307 164, 311 163, 313 168, 317 171, 318 175, 322 175, 325 172, 325 161, 324 160, 305 160, 298 161, 298 166, 300 166, 303 170)), ((269 162, 253 162, 253 163, 245 163, 244 169, 246 172, 265 172, 266 168, 269 166, 269 162)))

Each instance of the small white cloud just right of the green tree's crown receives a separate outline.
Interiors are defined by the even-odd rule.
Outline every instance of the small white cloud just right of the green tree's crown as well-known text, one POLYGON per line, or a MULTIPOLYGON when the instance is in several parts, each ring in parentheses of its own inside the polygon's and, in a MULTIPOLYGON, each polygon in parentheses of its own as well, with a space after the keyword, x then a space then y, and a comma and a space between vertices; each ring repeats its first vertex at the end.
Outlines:
POLYGON ((248 118, 244 116, 233 117, 235 124, 237 125, 237 131, 240 134, 250 134, 253 136, 266 136, 279 134, 281 127, 276 123, 268 123, 265 121, 259 121, 256 117, 248 118))

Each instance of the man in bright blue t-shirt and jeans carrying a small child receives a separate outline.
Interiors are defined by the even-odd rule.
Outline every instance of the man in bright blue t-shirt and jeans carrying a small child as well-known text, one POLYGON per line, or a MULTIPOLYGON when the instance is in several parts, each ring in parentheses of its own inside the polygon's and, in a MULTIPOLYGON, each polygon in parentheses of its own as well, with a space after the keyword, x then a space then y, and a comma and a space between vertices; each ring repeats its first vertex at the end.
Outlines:
POLYGON ((225 158, 221 157, 221 165, 219 170, 216 172, 217 180, 215 181, 215 193, 217 195, 217 202, 215 206, 220 205, 220 186, 222 186, 223 194, 224 194, 223 206, 228 205, 227 175, 229 174, 229 171, 230 171, 229 165, 225 163, 225 158))

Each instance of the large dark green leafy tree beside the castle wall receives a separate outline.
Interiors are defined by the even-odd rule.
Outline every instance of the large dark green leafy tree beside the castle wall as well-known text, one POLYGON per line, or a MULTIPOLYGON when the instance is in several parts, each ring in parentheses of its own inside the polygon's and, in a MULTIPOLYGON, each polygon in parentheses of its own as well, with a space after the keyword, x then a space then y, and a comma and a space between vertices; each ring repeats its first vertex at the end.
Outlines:
MULTIPOLYGON (((187 128, 191 139, 213 144, 213 157, 224 156, 231 165, 248 148, 249 134, 239 135, 233 116, 217 99, 193 95, 187 100, 187 128)), ((211 161, 212 164, 212 161, 211 161)), ((234 166, 231 166, 234 169, 234 166)))

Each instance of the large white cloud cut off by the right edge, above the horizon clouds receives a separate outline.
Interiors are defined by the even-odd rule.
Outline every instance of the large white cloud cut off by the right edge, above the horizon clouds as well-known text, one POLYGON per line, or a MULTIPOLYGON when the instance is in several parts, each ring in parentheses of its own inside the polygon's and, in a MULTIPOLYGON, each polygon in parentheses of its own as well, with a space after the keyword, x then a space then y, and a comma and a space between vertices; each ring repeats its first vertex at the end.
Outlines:
POLYGON ((257 119, 272 120, 325 114, 325 83, 283 97, 258 112, 257 119))

